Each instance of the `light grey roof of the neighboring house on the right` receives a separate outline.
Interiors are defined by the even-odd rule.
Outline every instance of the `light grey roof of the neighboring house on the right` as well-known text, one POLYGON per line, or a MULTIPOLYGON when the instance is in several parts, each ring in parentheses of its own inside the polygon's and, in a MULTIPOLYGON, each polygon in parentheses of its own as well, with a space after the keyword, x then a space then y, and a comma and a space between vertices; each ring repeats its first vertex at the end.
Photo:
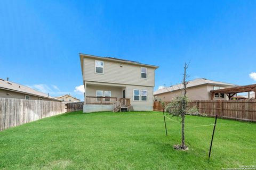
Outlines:
MULTIPOLYGON (((212 84, 212 85, 219 85, 219 86, 238 86, 236 84, 231 84, 231 83, 225 83, 225 82, 213 81, 213 80, 207 80, 207 79, 200 78, 200 79, 195 79, 195 80, 189 81, 189 83, 187 85, 187 88, 200 86, 200 85, 203 85, 203 84, 212 84)), ((165 92, 170 92, 170 91, 175 91, 175 90, 180 90, 182 88, 183 88, 183 85, 180 83, 180 84, 177 84, 177 85, 174 85, 174 86, 171 86, 171 87, 156 90, 156 91, 154 91, 154 95, 163 94, 165 92)))

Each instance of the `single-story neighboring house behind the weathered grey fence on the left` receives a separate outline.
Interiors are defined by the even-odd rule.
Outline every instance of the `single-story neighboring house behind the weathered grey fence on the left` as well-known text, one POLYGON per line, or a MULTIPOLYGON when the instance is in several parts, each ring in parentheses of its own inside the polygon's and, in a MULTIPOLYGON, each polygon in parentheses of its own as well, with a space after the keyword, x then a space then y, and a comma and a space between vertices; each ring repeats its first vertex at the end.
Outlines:
POLYGON ((49 96, 49 94, 44 94, 43 92, 4 79, 0 79, 0 97, 27 100, 61 101, 49 96))

